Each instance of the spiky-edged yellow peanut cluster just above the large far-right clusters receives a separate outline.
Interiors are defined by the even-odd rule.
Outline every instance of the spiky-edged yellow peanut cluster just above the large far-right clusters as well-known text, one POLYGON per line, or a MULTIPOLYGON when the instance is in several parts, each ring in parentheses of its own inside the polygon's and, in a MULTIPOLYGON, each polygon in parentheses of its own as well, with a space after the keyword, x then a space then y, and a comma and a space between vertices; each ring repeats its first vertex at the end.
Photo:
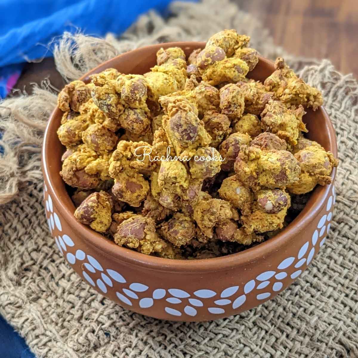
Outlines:
POLYGON ((290 110, 280 101, 270 100, 261 113, 261 126, 263 130, 276 134, 288 144, 296 145, 300 132, 307 132, 302 121, 305 113, 302 106, 290 110))

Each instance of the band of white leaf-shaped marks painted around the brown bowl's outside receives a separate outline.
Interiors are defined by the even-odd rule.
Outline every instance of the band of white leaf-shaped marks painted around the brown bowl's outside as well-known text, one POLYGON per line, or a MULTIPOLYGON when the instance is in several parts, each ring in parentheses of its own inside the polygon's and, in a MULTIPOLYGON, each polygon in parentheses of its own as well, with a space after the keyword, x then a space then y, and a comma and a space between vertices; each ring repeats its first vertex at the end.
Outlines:
POLYGON ((121 287, 123 294, 116 291, 118 300, 128 306, 132 306, 133 302, 131 300, 135 300, 137 305, 139 305, 142 309, 152 307, 156 300, 161 299, 164 299, 166 303, 170 305, 174 305, 174 307, 185 302, 187 304, 184 306, 183 312, 178 308, 169 306, 166 306, 164 310, 166 313, 173 316, 186 314, 192 317, 198 314, 197 308, 206 307, 205 309, 213 315, 225 313, 224 308, 227 305, 231 305, 233 309, 237 309, 246 302, 247 295, 251 294, 251 292, 256 292, 256 299, 261 302, 262 300, 270 298, 271 292, 260 292, 260 290, 263 290, 266 287, 271 287, 273 292, 278 292, 284 287, 284 284, 280 280, 285 279, 287 275, 289 275, 291 279, 296 279, 303 272, 302 266, 309 265, 319 247, 321 247, 325 242, 325 235, 328 234, 331 226, 330 222, 332 220, 332 211, 336 200, 335 197, 335 190, 332 186, 332 195, 330 195, 326 202, 326 213, 324 213, 319 219, 317 228, 313 232, 311 240, 305 242, 304 245, 301 246, 296 257, 290 256, 282 260, 277 266, 277 271, 263 271, 260 275, 257 275, 255 279, 248 280, 243 286, 241 286, 241 289, 240 286, 234 285, 222 289, 221 292, 216 292, 208 287, 204 287, 190 293, 177 287, 167 290, 155 288, 153 291, 150 291, 150 287, 141 282, 127 283, 125 277, 119 272, 112 269, 103 269, 102 264, 97 260, 97 258, 86 254, 83 250, 74 250, 74 253, 67 252, 70 248, 75 247, 76 245, 68 234, 62 233, 62 224, 57 213, 54 211, 55 208, 53 200, 47 192, 47 187, 44 186, 45 209, 49 230, 51 233, 55 229, 58 231, 58 236, 54 236, 55 243, 60 253, 62 255, 65 253, 65 257, 71 265, 76 263, 77 260, 83 261, 87 259, 88 262, 84 263, 84 269, 86 271, 82 271, 82 276, 90 285, 98 287, 98 289, 103 293, 106 293, 108 289, 115 289, 115 285, 118 286, 118 284, 129 285, 121 287), (317 245, 318 242, 319 245, 317 245), (310 245, 312 246, 310 247, 310 245), (97 272, 101 275, 101 278, 97 279, 95 282, 90 274, 95 274, 97 272), (147 291, 149 291, 149 294, 146 294, 147 291), (140 295, 143 294, 145 296, 140 297, 140 295), (215 296, 218 298, 213 298, 215 296), (207 304, 205 304, 206 299, 213 299, 213 301, 211 301, 212 304, 217 306, 208 307, 207 304))

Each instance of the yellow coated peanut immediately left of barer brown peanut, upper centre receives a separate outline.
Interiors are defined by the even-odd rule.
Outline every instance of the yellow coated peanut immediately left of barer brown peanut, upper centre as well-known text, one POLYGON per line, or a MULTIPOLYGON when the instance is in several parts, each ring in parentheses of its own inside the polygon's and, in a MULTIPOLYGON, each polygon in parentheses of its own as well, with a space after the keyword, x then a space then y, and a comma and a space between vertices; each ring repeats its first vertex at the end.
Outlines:
POLYGON ((208 111, 219 110, 220 108, 219 90, 208 83, 201 82, 193 89, 191 95, 198 102, 199 118, 203 118, 208 111))

